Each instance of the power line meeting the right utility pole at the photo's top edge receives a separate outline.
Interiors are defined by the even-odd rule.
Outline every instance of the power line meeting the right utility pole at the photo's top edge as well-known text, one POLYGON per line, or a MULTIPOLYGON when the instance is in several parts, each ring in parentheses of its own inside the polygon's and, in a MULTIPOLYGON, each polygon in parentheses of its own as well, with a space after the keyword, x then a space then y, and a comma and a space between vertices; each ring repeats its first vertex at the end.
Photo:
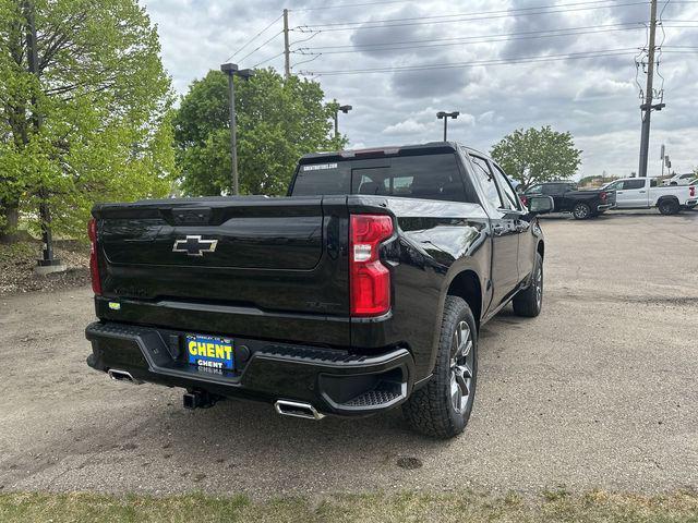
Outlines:
POLYGON ((530 16, 539 14, 563 13, 574 11, 589 11, 593 9, 607 9, 607 8, 621 8, 629 5, 646 5, 648 2, 634 1, 623 3, 610 3, 613 0, 594 0, 591 2, 576 2, 557 5, 542 5, 538 8, 518 8, 507 9, 501 11, 482 11, 476 13, 457 13, 457 14, 443 14, 435 16, 410 16, 405 19, 386 19, 386 20, 366 20, 361 22, 337 22, 332 24, 315 24, 315 25, 302 25, 294 27, 299 32, 330 32, 330 31, 359 31, 359 29, 372 29, 381 27, 401 27, 408 25, 425 25, 425 24, 447 24, 455 22, 467 22, 477 20, 493 20, 520 15, 530 16), (598 5, 603 3, 603 5, 598 5), (565 9, 559 9, 565 8, 565 9), (570 8, 570 9, 567 9, 570 8), (441 20, 441 19, 458 19, 458 20, 441 20), (397 22, 397 23, 396 23, 397 22), (404 23, 405 22, 405 23, 404 23), (338 26, 352 26, 352 27, 338 27, 338 26), (353 27, 358 26, 358 27, 353 27))

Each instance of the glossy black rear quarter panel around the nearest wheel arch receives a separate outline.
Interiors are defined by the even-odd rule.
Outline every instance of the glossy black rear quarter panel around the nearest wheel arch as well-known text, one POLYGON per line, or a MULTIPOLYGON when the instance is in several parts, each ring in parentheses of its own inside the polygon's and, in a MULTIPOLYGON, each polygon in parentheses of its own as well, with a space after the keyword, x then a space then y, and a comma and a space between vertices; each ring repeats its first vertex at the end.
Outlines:
POLYGON ((484 312, 491 294, 490 222, 478 204, 380 196, 350 196, 349 212, 384 208, 397 224, 382 258, 393 281, 392 317, 351 320, 353 346, 406 344, 414 356, 416 379, 430 375, 448 287, 464 270, 480 279, 484 312))

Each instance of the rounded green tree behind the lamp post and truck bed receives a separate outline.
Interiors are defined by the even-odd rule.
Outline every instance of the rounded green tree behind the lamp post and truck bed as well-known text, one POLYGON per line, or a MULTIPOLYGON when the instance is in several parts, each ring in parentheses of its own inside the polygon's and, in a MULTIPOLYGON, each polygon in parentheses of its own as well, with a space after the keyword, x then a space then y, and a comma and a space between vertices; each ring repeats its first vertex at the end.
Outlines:
MULTIPOLYGON (((330 136, 333 108, 316 82, 285 81, 266 69, 234 83, 241 194, 285 194, 301 155, 346 145, 346 137, 330 136)), ((182 98, 174 138, 186 194, 230 193, 228 100, 228 78, 219 71, 194 81, 182 98)))

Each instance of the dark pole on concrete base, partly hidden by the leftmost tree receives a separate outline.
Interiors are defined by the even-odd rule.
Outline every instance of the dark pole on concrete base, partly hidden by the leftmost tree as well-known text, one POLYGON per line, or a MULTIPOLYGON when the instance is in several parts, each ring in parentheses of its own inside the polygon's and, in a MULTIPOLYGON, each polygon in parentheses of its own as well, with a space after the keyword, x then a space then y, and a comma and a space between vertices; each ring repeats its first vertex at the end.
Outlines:
MULTIPOLYGON (((39 78, 38 70, 38 50, 36 45, 36 24, 34 22, 34 2, 33 0, 24 1, 24 13, 26 17, 26 49, 27 64, 29 73, 39 78)), ((36 96, 32 96, 32 122, 34 132, 39 134, 41 130, 43 118, 37 107, 36 96)), ((41 242, 43 256, 37 260, 35 269, 38 273, 59 272, 65 270, 60 259, 53 257, 53 236, 51 234, 51 209, 48 206, 48 191, 46 187, 39 188, 39 219, 41 220, 41 242)))

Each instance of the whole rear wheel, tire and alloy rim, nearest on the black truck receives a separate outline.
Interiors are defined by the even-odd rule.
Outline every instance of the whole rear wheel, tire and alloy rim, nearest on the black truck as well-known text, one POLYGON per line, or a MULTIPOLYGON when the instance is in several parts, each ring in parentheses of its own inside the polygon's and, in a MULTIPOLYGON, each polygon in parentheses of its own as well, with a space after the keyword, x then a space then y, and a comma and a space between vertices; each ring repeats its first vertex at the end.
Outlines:
POLYGON ((402 406, 410 426, 436 438, 460 434, 470 418, 478 376, 478 333, 470 307, 446 296, 434 373, 402 406))

